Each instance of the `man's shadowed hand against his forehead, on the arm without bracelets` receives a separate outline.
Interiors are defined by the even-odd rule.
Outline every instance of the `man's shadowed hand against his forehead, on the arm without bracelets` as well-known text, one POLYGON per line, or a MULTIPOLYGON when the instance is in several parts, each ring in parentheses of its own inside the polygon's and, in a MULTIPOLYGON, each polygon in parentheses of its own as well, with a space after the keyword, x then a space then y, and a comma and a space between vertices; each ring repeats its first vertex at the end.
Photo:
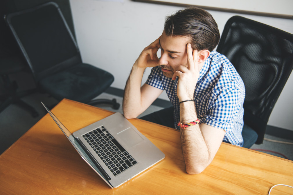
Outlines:
POLYGON ((134 63, 134 66, 138 68, 147 68, 154 67, 159 65, 159 58, 157 56, 157 52, 160 48, 159 39, 161 36, 152 42, 149 46, 144 48, 142 53, 139 55, 137 60, 134 63))

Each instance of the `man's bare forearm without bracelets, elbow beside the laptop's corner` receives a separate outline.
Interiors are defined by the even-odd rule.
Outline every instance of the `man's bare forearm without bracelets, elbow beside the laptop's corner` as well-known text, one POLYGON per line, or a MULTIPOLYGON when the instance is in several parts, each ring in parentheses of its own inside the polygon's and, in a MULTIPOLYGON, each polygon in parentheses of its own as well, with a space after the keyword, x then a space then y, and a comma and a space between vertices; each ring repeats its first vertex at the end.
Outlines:
POLYGON ((145 68, 138 68, 135 64, 125 85, 123 97, 123 113, 125 118, 135 118, 141 105, 141 83, 145 68))

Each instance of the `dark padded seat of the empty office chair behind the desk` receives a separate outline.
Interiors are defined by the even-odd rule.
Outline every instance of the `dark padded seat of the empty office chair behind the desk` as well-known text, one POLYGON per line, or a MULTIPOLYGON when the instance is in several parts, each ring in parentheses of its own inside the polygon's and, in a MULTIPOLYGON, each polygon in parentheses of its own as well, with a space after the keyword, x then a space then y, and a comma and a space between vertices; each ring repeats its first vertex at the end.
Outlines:
POLYGON ((80 63, 40 80, 40 87, 55 99, 63 98, 88 103, 104 92, 114 77, 105 70, 80 63))

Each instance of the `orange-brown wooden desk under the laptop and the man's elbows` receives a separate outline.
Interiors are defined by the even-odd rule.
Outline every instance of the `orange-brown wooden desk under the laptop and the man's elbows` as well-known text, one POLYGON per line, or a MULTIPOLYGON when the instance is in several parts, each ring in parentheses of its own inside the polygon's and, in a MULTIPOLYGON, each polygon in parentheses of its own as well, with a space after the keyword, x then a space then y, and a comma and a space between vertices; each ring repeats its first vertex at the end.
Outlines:
MULTIPOLYGON (((112 112, 64 99, 52 112, 71 132, 112 112)), ((17 122, 17 121, 16 121, 17 122)), ((166 158, 122 186, 111 189, 77 154, 45 115, 0 156, 0 194, 268 194, 275 184, 293 186, 293 162, 223 143, 212 163, 188 175, 179 132, 130 120, 166 158)), ((292 194, 277 186, 275 194, 292 194)))

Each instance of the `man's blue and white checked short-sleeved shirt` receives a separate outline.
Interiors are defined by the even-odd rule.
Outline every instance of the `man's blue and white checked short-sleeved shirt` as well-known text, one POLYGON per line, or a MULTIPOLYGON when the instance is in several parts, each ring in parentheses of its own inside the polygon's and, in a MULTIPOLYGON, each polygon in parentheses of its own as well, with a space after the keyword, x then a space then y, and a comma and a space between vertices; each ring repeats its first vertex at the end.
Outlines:
MULTIPOLYGON (((175 81, 163 75, 161 66, 153 67, 147 84, 166 90, 174 106, 174 127, 179 122, 178 77, 175 81)), ((223 141, 242 146, 243 102, 245 88, 230 61, 212 51, 200 70, 194 93, 194 103, 200 123, 226 130, 223 141)))

